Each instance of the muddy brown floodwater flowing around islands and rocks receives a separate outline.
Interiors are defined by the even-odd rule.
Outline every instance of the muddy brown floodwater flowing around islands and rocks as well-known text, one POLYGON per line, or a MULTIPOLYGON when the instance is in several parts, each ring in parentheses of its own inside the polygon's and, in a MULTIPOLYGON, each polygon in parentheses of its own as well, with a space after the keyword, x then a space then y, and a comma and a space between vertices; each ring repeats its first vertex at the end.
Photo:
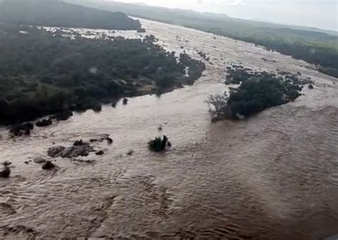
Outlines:
POLYGON ((160 98, 76 114, 36 128, 31 137, 9 139, 1 130, 0 160, 12 162, 12 173, 0 180, 0 239, 317 240, 337 234, 337 78, 249 43, 141 22, 166 49, 183 46, 194 58, 203 51, 212 64, 195 85, 160 98), (249 120, 212 124, 204 100, 227 89, 222 82, 230 63, 300 72, 315 88, 249 120), (91 164, 57 158, 57 169, 48 172, 24 163, 46 157, 54 144, 101 134, 114 142, 94 144, 106 155, 81 158, 96 160, 91 164), (150 152, 148 140, 163 134, 173 147, 150 152))

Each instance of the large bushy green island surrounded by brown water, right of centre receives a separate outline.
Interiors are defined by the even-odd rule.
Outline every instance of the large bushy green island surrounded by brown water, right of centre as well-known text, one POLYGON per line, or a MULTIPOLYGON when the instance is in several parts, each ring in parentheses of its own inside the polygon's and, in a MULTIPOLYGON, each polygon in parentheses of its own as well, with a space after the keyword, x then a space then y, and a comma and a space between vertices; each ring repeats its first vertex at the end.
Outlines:
POLYGON ((237 85, 230 94, 210 95, 206 103, 214 114, 212 121, 242 120, 267 108, 296 100, 304 85, 313 88, 310 78, 286 72, 255 72, 249 68, 235 66, 227 68, 225 84, 237 85))

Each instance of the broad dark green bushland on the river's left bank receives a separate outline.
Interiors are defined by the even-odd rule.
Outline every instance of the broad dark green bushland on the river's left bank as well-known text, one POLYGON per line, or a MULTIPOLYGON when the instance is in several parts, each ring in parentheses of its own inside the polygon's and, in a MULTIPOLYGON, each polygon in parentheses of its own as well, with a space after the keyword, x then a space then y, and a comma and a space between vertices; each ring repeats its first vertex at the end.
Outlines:
POLYGON ((193 83, 205 69, 186 55, 177 61, 174 52, 154 43, 154 36, 89 39, 75 31, 69 33, 72 38, 64 34, 0 24, 1 123, 65 110, 100 110, 100 103, 124 96, 193 83))

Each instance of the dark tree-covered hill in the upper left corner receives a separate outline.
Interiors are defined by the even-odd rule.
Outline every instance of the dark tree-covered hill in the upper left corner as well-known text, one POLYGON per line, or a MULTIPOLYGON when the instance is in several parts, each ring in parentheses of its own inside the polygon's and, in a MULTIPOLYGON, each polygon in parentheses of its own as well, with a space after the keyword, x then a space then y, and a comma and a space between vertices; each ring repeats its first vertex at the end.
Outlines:
POLYGON ((0 0, 0 21, 11 24, 137 30, 140 22, 121 12, 57 0, 0 0))

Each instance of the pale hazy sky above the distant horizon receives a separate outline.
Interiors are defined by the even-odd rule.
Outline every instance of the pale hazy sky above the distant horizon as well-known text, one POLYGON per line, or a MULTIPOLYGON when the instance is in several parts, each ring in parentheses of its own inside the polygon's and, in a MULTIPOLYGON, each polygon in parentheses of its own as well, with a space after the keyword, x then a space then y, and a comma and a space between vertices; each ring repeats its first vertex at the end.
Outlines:
POLYGON ((116 0, 338 31, 338 0, 116 0))

